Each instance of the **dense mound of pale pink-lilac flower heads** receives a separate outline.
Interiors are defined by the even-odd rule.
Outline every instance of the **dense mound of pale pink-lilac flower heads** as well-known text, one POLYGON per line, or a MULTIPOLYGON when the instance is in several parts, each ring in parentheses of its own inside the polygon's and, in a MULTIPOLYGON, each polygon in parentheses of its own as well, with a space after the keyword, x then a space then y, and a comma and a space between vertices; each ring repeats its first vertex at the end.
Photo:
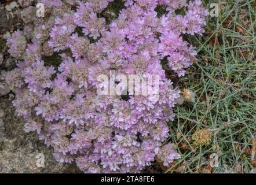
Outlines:
POLYGON ((100 15, 113 1, 42 0, 47 16, 34 21, 32 39, 21 31, 8 39, 9 53, 20 61, 6 81, 25 131, 36 131, 57 161, 75 161, 88 173, 140 172, 156 156, 166 166, 180 158, 172 143, 162 146, 180 91, 161 61, 185 75, 196 51, 182 35, 201 35, 208 13, 200 0, 127 0, 108 23, 100 15), (166 14, 159 16, 156 6, 166 14), (185 15, 175 14, 180 8, 185 15), (43 61, 52 55, 60 57, 43 61), (97 76, 113 69, 159 75, 159 98, 98 95, 97 76))

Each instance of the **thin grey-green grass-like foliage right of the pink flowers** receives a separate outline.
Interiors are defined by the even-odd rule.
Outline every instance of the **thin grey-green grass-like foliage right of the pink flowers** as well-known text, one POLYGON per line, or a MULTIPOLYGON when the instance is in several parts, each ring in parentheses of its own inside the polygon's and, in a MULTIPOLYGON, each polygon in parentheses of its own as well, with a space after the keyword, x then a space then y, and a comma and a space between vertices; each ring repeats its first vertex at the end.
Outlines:
MULTIPOLYGON (((206 6, 213 2, 204 1, 206 6)), ((199 60, 177 86, 185 93, 187 89, 195 92, 196 98, 175 109, 170 140, 175 140, 182 158, 168 172, 255 170, 255 7, 255 1, 225 1, 218 17, 207 18, 206 34, 191 37, 199 60), (211 132, 207 135, 210 142, 200 145, 193 135, 204 129, 211 132), (218 164, 214 165, 216 157, 218 164)))

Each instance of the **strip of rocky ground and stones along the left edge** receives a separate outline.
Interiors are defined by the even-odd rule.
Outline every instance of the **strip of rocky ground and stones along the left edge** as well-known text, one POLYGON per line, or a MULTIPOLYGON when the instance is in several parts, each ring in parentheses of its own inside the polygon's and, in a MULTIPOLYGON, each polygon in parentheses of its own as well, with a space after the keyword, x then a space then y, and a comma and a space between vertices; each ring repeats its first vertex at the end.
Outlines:
MULTIPOLYGON (((61 164, 53 150, 36 133, 24 132, 24 120, 17 116, 14 94, 5 83, 5 75, 16 65, 8 54, 6 37, 22 28, 20 14, 28 1, 0 1, 0 173, 77 173, 75 164, 61 164)), ((34 2, 34 1, 30 1, 34 2)))

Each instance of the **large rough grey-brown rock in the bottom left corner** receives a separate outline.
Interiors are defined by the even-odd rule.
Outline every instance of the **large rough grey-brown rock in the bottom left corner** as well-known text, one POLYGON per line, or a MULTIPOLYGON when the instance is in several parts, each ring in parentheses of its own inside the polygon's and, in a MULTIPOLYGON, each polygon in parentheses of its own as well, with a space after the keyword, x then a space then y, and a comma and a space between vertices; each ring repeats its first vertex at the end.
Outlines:
POLYGON ((57 162, 53 149, 23 128, 9 99, 0 98, 0 173, 81 173, 75 164, 57 162))

